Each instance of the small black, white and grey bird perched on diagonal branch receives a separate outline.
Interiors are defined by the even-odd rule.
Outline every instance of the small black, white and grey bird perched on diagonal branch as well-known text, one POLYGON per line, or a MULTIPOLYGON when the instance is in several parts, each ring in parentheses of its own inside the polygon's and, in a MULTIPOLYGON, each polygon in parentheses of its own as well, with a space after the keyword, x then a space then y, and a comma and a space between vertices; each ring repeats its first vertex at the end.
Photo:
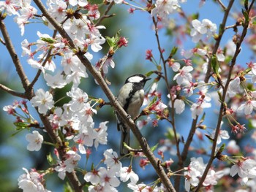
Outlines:
MULTIPOLYGON (((124 85, 121 87, 117 101, 121 107, 130 115, 130 118, 135 119, 140 112, 140 107, 144 99, 144 85, 151 78, 143 74, 134 74, 127 78, 124 85)), ((124 142, 129 145, 129 127, 124 126, 121 117, 116 113, 117 129, 121 131, 120 155, 127 155, 129 151, 124 147, 124 142)))

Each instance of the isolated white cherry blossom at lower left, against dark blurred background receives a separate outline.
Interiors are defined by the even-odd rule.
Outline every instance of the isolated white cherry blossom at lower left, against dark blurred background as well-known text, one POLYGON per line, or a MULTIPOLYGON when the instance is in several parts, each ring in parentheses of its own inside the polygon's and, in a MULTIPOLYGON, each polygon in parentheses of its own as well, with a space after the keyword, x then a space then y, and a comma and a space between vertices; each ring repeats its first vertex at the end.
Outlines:
POLYGON ((42 147, 42 142, 44 141, 44 138, 41 134, 39 134, 38 131, 33 131, 32 134, 26 135, 26 140, 29 142, 29 145, 26 147, 27 150, 38 151, 42 147))

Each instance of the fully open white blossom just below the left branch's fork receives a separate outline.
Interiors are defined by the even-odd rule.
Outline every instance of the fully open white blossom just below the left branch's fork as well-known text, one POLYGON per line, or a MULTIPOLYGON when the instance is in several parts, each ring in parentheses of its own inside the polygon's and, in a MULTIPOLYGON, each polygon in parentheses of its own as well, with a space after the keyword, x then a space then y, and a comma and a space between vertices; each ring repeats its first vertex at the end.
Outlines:
POLYGON ((31 99, 31 104, 38 107, 39 113, 45 114, 53 107, 53 96, 49 91, 43 91, 42 88, 36 91, 35 96, 31 99))

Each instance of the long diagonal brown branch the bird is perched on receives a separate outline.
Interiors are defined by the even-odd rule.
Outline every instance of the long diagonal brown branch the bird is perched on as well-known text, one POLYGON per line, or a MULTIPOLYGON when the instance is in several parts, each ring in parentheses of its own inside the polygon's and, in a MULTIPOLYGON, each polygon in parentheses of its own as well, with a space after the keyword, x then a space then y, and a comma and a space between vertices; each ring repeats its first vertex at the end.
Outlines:
MULTIPOLYGON (((37 4, 37 7, 39 7, 39 9, 42 11, 42 14, 54 26, 54 28, 56 28, 56 30, 59 31, 59 34, 61 34, 61 37, 68 40, 69 46, 72 49, 77 50, 77 47, 75 47, 74 42, 69 37, 67 32, 64 30, 64 28, 62 28, 62 26, 48 14, 48 11, 47 9, 45 9, 45 6, 42 4, 42 1, 34 0, 34 2, 35 4, 37 4)), ((154 169, 159 175, 159 178, 162 180, 163 185, 165 185, 165 188, 167 188, 167 191, 175 191, 175 189, 173 188, 173 185, 170 183, 170 180, 167 177, 167 174, 165 173, 165 170, 162 168, 162 166, 159 166, 159 161, 157 161, 157 158, 154 157, 154 154, 151 152, 150 147, 148 147, 146 139, 142 136, 138 128, 135 126, 134 121, 130 118, 127 119, 127 116, 128 116, 127 112, 125 112, 124 109, 121 107, 121 105, 118 103, 118 101, 116 100, 116 97, 108 88, 108 85, 105 82, 104 78, 102 78, 102 75, 100 74, 100 72, 98 72, 97 69, 95 69, 94 66, 91 65, 90 61, 83 55, 83 53, 78 52, 77 56, 80 59, 80 61, 83 63, 83 65, 86 66, 86 69, 88 69, 89 72, 92 74, 94 79, 97 80, 100 87, 102 88, 102 91, 104 91, 105 95, 110 100, 110 103, 113 105, 116 112, 118 112, 120 117, 124 120, 124 123, 126 123, 132 129, 132 132, 135 134, 135 137, 140 142, 140 146, 143 150, 143 153, 151 162, 152 166, 154 166, 154 169)))

